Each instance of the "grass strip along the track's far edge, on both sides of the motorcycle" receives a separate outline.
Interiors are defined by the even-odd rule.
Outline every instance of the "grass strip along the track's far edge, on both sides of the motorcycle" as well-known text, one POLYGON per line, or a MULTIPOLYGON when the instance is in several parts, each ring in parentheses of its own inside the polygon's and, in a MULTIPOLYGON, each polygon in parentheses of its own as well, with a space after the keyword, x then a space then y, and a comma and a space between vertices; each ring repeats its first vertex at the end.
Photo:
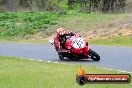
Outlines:
MULTIPOLYGON (((49 43, 48 39, 45 39, 45 40, 0 39, 0 42, 17 42, 17 43, 34 43, 34 44, 49 43)), ((116 37, 111 37, 111 38, 88 39, 88 42, 89 44, 93 44, 93 45, 132 47, 132 36, 116 36, 116 37)))

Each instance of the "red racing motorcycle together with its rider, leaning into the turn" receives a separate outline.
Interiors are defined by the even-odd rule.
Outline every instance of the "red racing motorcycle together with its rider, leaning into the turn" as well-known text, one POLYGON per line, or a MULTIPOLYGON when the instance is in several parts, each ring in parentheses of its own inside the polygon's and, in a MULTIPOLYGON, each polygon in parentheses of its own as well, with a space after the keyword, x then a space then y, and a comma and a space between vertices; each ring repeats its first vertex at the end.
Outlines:
POLYGON ((63 28, 57 29, 56 37, 49 42, 54 45, 60 60, 89 58, 94 61, 100 60, 99 54, 89 48, 88 42, 85 42, 80 35, 74 32, 65 32, 63 28))

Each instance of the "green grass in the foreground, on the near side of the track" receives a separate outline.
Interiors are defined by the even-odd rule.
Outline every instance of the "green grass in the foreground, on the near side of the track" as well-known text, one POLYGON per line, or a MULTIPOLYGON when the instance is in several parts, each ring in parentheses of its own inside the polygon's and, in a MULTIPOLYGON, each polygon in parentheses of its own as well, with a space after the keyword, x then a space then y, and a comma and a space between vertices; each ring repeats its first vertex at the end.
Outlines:
MULTIPOLYGON (((1 88, 80 88, 76 83, 79 65, 56 64, 30 61, 15 57, 0 57, 1 88)), ((105 70, 83 65, 87 73, 119 74, 115 70, 105 70)), ((123 73, 121 73, 123 74, 123 73)), ((132 74, 130 74, 132 75, 132 74)), ((86 84, 82 88, 131 88, 130 84, 86 84)))

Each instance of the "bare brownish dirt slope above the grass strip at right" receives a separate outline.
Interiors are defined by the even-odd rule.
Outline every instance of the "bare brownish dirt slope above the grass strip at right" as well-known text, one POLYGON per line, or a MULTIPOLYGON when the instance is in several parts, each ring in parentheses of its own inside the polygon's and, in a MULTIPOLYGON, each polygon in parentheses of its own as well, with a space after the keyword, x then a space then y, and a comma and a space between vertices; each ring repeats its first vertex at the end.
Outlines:
POLYGON ((87 38, 132 35, 132 20, 116 21, 102 28, 90 30, 87 38))

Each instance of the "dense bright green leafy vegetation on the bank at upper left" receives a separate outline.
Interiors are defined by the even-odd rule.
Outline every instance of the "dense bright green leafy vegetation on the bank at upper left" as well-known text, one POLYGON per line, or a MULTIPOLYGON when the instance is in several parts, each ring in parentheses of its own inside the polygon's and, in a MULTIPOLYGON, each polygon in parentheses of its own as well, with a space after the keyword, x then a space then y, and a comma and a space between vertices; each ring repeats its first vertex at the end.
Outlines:
POLYGON ((61 15, 55 12, 0 13, 0 37, 25 37, 55 25, 61 15))

